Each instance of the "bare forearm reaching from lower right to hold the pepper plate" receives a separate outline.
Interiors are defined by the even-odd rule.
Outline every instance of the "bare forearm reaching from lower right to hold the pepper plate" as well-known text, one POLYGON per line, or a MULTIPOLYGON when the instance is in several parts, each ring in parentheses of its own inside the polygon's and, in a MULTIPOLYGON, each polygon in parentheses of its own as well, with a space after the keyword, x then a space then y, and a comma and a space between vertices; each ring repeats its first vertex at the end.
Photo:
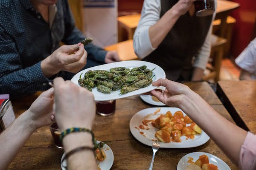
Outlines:
POLYGON ((238 165, 245 130, 222 117, 193 91, 182 99, 180 108, 238 165))

